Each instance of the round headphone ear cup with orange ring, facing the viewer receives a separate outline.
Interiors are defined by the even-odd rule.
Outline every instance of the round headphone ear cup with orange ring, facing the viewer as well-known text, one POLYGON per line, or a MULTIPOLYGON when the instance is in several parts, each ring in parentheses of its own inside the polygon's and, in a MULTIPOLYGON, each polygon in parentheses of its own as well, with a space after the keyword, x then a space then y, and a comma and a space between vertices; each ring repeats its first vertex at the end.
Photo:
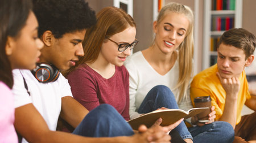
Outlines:
POLYGON ((49 83, 52 79, 53 68, 49 64, 39 63, 32 73, 40 83, 49 83))

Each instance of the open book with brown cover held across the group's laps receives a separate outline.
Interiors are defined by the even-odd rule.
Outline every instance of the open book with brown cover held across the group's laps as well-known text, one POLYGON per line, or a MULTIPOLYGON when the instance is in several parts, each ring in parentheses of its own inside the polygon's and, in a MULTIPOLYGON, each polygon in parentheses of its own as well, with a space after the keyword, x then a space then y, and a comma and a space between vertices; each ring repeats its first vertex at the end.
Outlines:
POLYGON ((209 110, 209 108, 193 108, 189 109, 188 111, 184 111, 181 109, 155 110, 152 112, 148 112, 147 114, 143 114, 137 118, 131 119, 128 121, 128 123, 133 129, 138 129, 139 125, 141 124, 144 124, 148 128, 150 128, 157 119, 162 118, 163 122, 161 123, 161 125, 166 126, 177 122, 181 118, 187 119, 195 116, 196 114, 199 114, 200 112, 203 112, 205 110, 209 110))

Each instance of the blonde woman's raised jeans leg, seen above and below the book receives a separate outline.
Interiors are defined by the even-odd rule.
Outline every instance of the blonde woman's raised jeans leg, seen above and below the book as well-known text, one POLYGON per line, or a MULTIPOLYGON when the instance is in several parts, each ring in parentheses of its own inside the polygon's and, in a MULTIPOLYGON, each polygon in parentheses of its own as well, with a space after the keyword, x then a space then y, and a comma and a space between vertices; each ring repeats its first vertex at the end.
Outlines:
MULTIPOLYGON (((157 85, 147 93, 147 96, 143 99, 141 106, 139 106, 138 112, 144 114, 160 109, 161 107, 179 109, 171 90, 167 86, 157 85)), ((184 122, 181 122, 175 130, 183 139, 192 138, 191 133, 189 133, 184 122)))

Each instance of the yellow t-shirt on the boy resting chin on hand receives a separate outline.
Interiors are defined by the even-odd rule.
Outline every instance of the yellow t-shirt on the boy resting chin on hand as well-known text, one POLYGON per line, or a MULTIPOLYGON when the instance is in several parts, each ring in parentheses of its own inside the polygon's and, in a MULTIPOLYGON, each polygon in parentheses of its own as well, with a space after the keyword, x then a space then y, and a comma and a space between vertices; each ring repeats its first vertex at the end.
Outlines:
MULTIPOLYGON (((210 96, 212 98, 212 106, 215 106, 216 120, 220 119, 225 105, 226 92, 222 87, 216 72, 218 71, 217 64, 212 67, 205 69, 204 71, 198 73, 191 83, 190 96, 194 104, 194 98, 200 96, 210 96)), ((238 93, 237 99, 237 122, 238 124, 241 120, 241 111, 243 105, 245 105, 246 99, 250 99, 251 95, 248 90, 248 83, 243 71, 239 77, 240 80, 240 91, 238 93)))

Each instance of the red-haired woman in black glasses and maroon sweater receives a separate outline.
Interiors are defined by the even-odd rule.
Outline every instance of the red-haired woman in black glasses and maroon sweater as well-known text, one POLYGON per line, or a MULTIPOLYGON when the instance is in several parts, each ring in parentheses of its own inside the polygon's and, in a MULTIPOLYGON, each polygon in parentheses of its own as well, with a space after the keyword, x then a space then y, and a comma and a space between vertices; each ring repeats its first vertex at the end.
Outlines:
POLYGON ((103 8, 96 17, 82 42, 84 56, 65 75, 73 97, 86 109, 108 103, 129 120, 129 73, 123 62, 138 42, 136 25, 120 8, 103 8))

